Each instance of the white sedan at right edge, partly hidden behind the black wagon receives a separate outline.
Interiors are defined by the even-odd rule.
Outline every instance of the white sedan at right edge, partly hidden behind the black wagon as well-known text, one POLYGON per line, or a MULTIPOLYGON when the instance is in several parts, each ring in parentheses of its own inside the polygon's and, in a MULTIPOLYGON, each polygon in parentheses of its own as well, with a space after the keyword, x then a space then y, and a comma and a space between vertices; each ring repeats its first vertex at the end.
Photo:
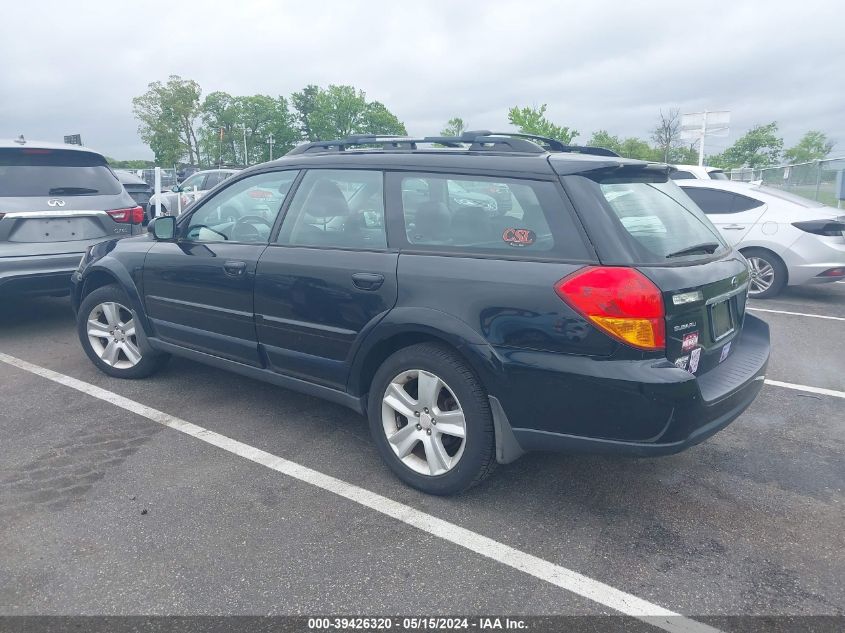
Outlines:
POLYGON ((749 294, 845 279, 845 212, 753 183, 681 180, 684 192, 751 266, 749 294))

